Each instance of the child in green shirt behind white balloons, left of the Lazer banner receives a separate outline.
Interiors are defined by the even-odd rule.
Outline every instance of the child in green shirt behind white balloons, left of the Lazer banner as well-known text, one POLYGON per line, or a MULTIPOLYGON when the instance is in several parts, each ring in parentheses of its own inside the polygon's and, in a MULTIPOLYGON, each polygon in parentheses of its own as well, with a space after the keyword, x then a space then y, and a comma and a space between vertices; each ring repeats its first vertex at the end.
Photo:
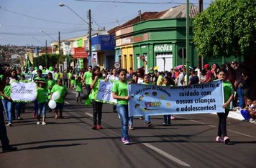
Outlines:
MULTIPOLYGON (((63 85, 63 79, 58 79, 57 84, 55 84, 52 87, 51 93, 58 92, 60 94, 60 97, 55 100, 57 106, 55 108, 55 119, 63 119, 63 105, 64 105, 64 99, 68 95, 68 88, 63 85), (58 116, 58 112, 60 112, 60 117, 58 116)), ((50 99, 52 99, 52 94, 50 99)))

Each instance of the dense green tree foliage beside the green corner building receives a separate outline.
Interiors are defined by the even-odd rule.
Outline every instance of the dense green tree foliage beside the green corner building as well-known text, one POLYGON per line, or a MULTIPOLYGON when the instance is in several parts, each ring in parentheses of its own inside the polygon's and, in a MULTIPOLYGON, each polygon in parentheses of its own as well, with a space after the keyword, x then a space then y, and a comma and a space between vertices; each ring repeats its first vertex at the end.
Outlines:
POLYGON ((256 51, 256 0, 216 0, 193 22, 193 41, 204 57, 256 51))

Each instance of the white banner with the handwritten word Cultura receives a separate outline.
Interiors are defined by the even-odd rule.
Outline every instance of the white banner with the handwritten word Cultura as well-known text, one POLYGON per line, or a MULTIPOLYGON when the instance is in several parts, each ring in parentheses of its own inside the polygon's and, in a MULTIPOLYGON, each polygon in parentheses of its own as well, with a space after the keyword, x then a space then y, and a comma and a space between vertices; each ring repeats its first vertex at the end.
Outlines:
POLYGON ((12 82, 11 87, 14 102, 30 102, 37 98, 37 85, 34 82, 12 82))

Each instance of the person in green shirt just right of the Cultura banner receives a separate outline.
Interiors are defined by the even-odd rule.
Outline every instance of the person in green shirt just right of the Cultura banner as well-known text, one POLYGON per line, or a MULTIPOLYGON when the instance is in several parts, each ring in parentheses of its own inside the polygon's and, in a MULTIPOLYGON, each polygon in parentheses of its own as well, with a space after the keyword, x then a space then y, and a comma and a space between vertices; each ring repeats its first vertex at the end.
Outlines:
POLYGON ((46 105, 47 105, 47 89, 45 81, 39 81, 39 87, 37 87, 37 125, 40 124, 40 117, 42 114, 42 125, 46 125, 46 105))

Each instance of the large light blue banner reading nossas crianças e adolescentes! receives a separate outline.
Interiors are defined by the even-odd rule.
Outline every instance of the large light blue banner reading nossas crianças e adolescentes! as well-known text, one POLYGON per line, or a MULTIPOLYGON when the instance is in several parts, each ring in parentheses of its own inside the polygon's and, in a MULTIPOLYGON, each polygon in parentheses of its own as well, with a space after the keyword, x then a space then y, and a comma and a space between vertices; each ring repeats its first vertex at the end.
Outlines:
POLYGON ((222 81, 183 87, 129 84, 129 117, 223 113, 222 81))

